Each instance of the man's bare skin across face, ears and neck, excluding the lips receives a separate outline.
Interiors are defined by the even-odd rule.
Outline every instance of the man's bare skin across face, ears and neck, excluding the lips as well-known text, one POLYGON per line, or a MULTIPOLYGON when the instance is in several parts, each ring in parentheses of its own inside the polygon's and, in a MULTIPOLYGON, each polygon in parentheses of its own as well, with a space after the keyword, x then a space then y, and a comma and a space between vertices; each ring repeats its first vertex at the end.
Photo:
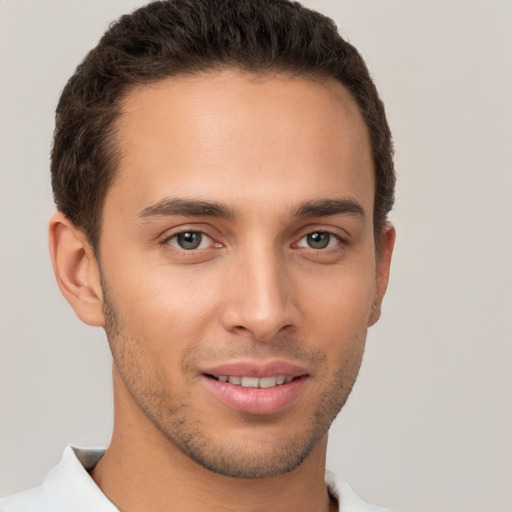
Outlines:
POLYGON ((394 244, 387 226, 375 254, 373 163, 354 101, 334 81, 221 70, 135 88, 122 111, 101 265, 62 214, 50 223, 59 286, 105 327, 114 356, 114 432, 94 480, 123 511, 332 509, 328 428, 394 244), (175 199, 229 215, 178 214, 175 199), (298 215, 319 201, 338 206, 298 215), (180 247, 183 232, 201 245, 180 247), (240 360, 290 362, 306 382, 278 412, 240 412, 202 374, 240 360))

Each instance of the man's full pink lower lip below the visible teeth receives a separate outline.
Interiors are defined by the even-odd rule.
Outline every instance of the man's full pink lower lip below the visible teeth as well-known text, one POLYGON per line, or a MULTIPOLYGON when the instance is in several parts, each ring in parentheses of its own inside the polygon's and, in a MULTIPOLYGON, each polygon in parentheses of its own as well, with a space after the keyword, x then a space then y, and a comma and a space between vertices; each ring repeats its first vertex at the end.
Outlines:
POLYGON ((307 376, 273 388, 244 388, 203 375, 208 389, 231 409, 248 414, 272 414, 294 402, 303 392, 307 376))

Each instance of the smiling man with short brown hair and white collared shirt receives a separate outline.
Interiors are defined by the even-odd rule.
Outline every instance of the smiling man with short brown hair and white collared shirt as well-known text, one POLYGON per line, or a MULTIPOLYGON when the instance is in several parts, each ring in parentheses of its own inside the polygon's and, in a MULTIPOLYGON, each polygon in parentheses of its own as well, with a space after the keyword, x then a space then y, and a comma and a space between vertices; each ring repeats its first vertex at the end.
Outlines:
POLYGON ((122 17, 63 91, 52 184, 114 432, 0 510, 383 510, 325 476, 394 244, 384 109, 331 20, 286 0, 122 17))

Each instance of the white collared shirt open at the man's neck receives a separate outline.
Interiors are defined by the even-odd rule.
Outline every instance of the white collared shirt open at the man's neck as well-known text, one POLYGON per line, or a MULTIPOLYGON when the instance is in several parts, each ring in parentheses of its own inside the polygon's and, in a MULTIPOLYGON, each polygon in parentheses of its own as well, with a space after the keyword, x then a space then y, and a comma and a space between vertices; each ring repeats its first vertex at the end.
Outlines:
MULTIPOLYGON (((0 499, 0 512, 119 512, 89 474, 104 453, 67 446, 59 464, 39 487, 0 499)), ((366 503, 328 471, 325 481, 338 499, 339 512, 390 512, 366 503)))

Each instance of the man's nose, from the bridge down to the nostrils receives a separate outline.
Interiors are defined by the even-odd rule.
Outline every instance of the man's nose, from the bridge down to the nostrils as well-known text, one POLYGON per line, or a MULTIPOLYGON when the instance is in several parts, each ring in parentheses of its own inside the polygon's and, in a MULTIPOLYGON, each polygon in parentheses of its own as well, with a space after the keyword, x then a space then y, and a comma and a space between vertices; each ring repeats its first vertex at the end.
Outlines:
POLYGON ((229 332, 268 342, 298 325, 293 282, 286 263, 273 249, 248 253, 238 257, 226 280, 230 290, 222 323, 229 332))

